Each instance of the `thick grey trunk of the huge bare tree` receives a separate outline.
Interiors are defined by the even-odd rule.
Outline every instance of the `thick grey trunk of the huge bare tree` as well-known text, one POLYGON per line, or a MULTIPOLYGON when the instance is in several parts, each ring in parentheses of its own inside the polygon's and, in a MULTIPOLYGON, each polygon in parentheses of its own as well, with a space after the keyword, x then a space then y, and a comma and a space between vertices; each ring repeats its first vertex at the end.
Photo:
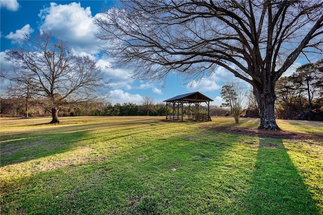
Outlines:
POLYGON ((281 130, 275 119, 275 87, 254 87, 253 93, 256 96, 260 111, 260 125, 258 129, 281 130))

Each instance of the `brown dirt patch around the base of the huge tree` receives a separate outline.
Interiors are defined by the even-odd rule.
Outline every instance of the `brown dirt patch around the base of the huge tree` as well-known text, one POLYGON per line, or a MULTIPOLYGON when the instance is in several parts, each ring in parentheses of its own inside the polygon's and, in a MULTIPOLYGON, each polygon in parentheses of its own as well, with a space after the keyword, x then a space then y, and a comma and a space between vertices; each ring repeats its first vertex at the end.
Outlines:
POLYGON ((305 134, 293 131, 271 131, 271 130, 261 130, 257 128, 251 128, 246 126, 202 126, 202 128, 208 129, 210 131, 224 132, 229 134, 240 134, 249 135, 257 137, 269 137, 275 139, 290 139, 290 140, 316 140, 322 141, 323 136, 315 134, 305 134))

